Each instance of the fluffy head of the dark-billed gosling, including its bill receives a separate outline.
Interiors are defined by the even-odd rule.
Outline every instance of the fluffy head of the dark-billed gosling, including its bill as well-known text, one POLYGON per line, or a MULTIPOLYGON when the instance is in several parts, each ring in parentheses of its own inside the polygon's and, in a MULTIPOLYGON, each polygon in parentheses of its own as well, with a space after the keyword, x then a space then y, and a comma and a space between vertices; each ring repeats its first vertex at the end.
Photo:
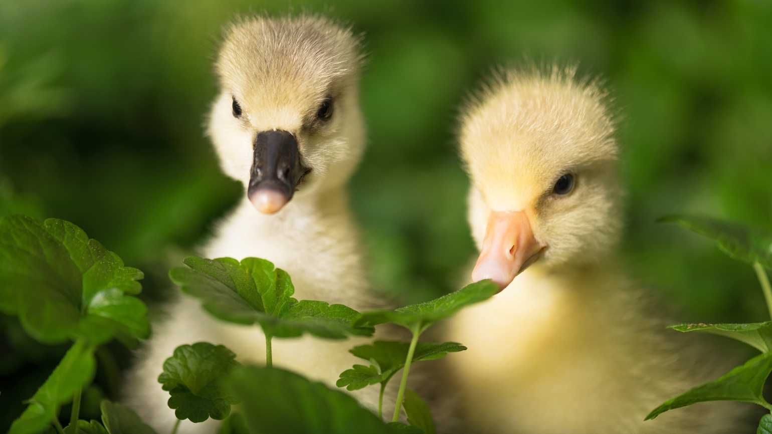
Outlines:
POLYGON ((364 147, 361 62, 359 39, 319 17, 255 17, 226 29, 208 134, 259 212, 350 178, 364 147))

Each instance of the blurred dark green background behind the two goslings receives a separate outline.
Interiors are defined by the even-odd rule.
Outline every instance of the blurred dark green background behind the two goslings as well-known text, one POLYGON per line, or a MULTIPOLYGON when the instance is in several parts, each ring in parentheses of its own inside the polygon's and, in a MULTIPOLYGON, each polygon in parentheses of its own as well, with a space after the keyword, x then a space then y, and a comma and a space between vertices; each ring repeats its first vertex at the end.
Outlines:
MULTIPOLYGON (((654 221, 696 212, 772 228, 772 3, 537 3, 2 0, 0 215, 75 222, 161 299, 169 258, 242 195, 201 127, 222 25, 323 12, 366 35, 370 140, 352 191, 376 287, 405 301, 455 287, 474 250, 459 103, 493 66, 557 60, 601 76, 621 114, 631 273, 683 320, 764 320, 750 267, 654 221)), ((0 327, 2 428, 63 348, 12 318, 0 327)), ((129 359, 100 351, 84 417, 115 396, 129 359)))

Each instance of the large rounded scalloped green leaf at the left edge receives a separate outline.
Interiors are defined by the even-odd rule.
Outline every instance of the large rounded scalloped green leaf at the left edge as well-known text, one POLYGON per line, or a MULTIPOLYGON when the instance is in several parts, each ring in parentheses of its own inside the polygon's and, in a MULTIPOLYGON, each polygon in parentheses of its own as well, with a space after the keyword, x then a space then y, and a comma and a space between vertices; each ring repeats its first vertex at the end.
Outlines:
POLYGON ((0 310, 38 341, 146 338, 147 307, 132 297, 142 276, 72 223, 0 219, 0 310))

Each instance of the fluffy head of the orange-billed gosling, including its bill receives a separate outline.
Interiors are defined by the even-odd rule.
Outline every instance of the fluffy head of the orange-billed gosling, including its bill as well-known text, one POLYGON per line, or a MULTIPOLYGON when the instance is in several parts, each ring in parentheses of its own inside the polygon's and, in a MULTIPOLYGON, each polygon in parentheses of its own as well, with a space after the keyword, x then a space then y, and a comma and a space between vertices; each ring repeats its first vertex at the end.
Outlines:
POLYGON ((474 280, 601 258, 618 238, 618 146, 604 93, 571 70, 503 73, 472 98, 459 141, 474 280))

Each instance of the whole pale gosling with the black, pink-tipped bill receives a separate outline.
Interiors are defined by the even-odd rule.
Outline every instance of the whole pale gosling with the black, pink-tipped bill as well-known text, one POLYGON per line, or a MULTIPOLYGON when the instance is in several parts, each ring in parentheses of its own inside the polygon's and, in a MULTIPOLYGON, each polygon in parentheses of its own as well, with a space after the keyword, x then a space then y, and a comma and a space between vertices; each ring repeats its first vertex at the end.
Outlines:
MULTIPOLYGON (((256 17, 230 25, 216 61, 220 91, 208 136, 222 170, 242 181, 246 195, 204 256, 269 259, 292 276, 299 300, 380 306, 369 292, 345 189, 364 150, 362 60, 357 36, 329 19, 256 17)), ((218 322, 189 297, 167 311, 127 381, 127 402, 158 432, 176 422, 157 377, 178 345, 211 341, 242 361, 265 360, 259 327, 218 322)), ((357 363, 347 352, 354 344, 274 340, 273 359, 334 387, 357 363)), ((377 405, 378 391, 364 389, 358 398, 377 405)), ((213 432, 211 423, 185 423, 181 432, 213 432)))

